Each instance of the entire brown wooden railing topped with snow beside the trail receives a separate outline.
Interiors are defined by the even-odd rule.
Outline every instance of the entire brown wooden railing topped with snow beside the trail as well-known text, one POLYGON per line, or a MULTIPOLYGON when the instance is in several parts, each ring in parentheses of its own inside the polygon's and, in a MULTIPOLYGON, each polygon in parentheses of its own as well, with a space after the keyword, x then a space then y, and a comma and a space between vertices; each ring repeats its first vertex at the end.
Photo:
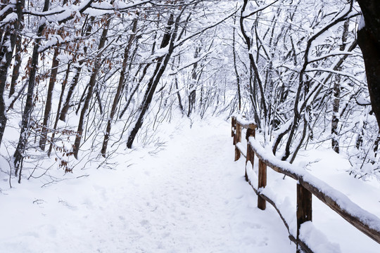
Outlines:
POLYGON ((246 157, 246 181, 250 183, 255 193, 258 195, 258 208, 264 210, 266 202, 269 202, 281 217, 284 225, 289 232, 289 239, 296 243, 297 252, 302 249, 304 252, 313 252, 307 242, 301 240, 300 228, 306 221, 312 221, 312 195, 318 197, 325 205, 329 206, 337 214, 346 219, 355 228, 360 230, 369 238, 380 243, 380 219, 361 207, 353 203, 346 195, 332 188, 327 183, 317 179, 309 174, 305 169, 296 167, 288 162, 278 160, 271 152, 266 151, 260 143, 255 141, 255 129, 257 125, 247 122, 240 117, 232 117, 232 137, 235 145, 235 161, 239 160, 241 155, 246 157), (241 144, 242 129, 246 129, 247 148, 246 153, 241 144), (258 187, 253 186, 253 182, 247 173, 247 164, 254 164, 255 155, 258 157, 258 187), (276 203, 270 197, 262 193, 263 188, 267 186, 267 167, 272 168, 281 174, 291 177, 297 181, 297 233, 293 235, 289 229, 289 224, 284 219, 276 203))

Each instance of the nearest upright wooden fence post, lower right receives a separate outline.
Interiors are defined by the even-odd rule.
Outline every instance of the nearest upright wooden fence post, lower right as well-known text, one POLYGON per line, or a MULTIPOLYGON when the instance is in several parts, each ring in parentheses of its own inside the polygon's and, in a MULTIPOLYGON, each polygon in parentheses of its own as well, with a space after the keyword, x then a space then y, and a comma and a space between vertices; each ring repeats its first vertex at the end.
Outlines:
POLYGON ((312 221, 312 194, 297 183, 297 253, 301 252, 298 247, 300 226, 306 221, 312 221))

